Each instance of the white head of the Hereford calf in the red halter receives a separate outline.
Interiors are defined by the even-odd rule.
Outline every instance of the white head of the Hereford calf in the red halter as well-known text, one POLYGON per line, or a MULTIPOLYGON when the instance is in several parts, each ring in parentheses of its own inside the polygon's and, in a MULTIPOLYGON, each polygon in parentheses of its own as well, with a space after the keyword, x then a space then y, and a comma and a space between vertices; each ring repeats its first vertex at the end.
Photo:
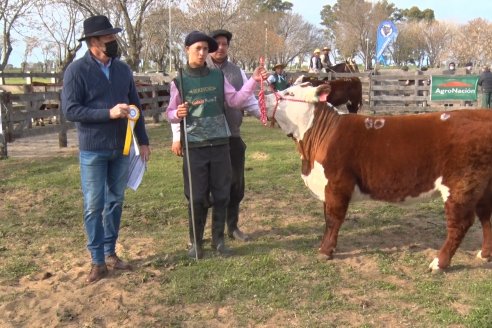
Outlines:
POLYGON ((278 122, 280 128, 296 140, 302 140, 314 119, 315 103, 320 101, 317 88, 295 85, 275 94, 265 96, 267 115, 278 122), (276 107, 276 110, 275 110, 276 107))

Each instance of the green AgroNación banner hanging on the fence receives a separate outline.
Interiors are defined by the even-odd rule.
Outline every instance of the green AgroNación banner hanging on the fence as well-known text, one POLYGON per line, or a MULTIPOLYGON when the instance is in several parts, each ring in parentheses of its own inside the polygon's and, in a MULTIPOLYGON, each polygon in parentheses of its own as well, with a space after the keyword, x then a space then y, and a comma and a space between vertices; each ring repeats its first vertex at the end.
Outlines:
POLYGON ((478 75, 432 75, 431 101, 477 100, 478 75))

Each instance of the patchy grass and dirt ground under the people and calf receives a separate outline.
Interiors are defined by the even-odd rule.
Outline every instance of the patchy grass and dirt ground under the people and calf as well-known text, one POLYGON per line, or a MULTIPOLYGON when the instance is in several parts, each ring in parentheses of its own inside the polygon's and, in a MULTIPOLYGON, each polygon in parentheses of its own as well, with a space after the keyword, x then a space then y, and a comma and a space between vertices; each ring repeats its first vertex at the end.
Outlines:
POLYGON ((317 257, 322 204, 300 178, 293 141, 247 118, 248 243, 234 255, 186 255, 181 160, 168 125, 127 191, 118 252, 135 270, 92 286, 77 157, 0 161, 2 327, 491 327, 489 263, 475 224, 446 273, 427 267, 445 237, 440 200, 351 205, 332 261, 317 257))

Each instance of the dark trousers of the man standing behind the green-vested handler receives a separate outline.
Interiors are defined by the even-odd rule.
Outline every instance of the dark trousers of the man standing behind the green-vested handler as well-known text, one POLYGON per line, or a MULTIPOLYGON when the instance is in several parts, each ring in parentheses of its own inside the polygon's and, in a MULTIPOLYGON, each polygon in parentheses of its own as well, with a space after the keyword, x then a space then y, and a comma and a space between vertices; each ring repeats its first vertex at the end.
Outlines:
POLYGON ((241 137, 229 138, 232 165, 232 181, 229 206, 227 208, 227 230, 232 233, 237 229, 239 220, 239 203, 244 198, 244 162, 246 144, 241 137))

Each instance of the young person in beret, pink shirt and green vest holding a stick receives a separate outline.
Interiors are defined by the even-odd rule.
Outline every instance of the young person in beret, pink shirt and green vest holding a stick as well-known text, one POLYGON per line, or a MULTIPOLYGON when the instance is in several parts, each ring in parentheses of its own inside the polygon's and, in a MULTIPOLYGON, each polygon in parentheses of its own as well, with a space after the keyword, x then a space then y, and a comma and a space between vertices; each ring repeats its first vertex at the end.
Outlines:
POLYGON ((217 49, 217 42, 205 33, 193 31, 186 36, 185 50, 188 62, 171 82, 171 96, 166 111, 168 121, 180 123, 181 133, 186 133, 188 140, 187 145, 183 142, 183 146, 188 147, 188 152, 183 152, 183 177, 184 192, 188 199, 189 234, 192 240, 188 255, 193 258, 203 257, 203 233, 208 214, 209 193, 214 200, 212 248, 220 255, 230 254, 224 241, 232 178, 229 154, 231 133, 225 110, 237 110, 235 108, 239 108, 253 95, 256 83, 267 77, 265 69, 257 67, 252 77, 236 91, 222 71, 211 69, 205 64, 207 55, 217 49), (224 103, 227 104, 227 109, 224 103), (192 204, 188 175, 191 175, 192 204), (196 240, 193 234, 192 208, 196 240))

